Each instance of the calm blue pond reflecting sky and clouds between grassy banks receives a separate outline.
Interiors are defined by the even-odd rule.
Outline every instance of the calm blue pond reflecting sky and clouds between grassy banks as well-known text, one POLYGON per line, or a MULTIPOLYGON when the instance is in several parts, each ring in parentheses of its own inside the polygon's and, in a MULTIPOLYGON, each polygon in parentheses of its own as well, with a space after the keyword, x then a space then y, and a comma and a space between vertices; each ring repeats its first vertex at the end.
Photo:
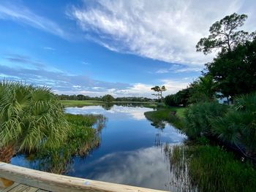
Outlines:
MULTIPOLYGON (((66 173, 74 177, 145 188, 177 191, 173 172, 163 144, 181 145, 186 139, 170 124, 159 129, 152 126, 144 112, 146 107, 101 106, 68 107, 67 113, 102 114, 107 118, 101 131, 100 146, 86 157, 75 156, 66 173)), ((16 155, 11 164, 35 168, 25 155, 16 155)))

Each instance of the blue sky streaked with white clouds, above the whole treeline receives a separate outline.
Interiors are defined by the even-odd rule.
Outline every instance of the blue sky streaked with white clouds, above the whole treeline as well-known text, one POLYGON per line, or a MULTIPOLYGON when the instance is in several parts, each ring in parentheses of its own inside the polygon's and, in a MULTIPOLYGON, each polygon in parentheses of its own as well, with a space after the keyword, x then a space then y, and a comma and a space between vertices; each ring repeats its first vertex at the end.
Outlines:
POLYGON ((1 0, 0 79, 54 93, 152 97, 186 88, 215 53, 196 52, 212 23, 254 0, 1 0))

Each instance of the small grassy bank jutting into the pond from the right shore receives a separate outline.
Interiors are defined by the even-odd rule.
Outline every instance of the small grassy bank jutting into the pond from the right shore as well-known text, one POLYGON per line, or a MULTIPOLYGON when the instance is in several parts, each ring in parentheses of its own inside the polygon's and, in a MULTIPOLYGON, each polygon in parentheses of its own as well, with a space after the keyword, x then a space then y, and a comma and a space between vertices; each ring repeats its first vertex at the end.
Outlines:
POLYGON ((165 128, 165 122, 167 122, 181 129, 183 127, 181 119, 184 118, 185 110, 185 107, 162 107, 155 111, 145 112, 144 115, 157 128, 165 128))

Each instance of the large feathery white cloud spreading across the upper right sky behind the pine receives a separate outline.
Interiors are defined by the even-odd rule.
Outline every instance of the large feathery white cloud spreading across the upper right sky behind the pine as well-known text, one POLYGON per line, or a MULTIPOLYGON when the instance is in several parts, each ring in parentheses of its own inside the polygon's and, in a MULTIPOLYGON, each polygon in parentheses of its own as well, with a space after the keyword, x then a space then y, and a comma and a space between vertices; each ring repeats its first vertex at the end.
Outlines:
MULTIPOLYGON (((83 7, 74 6, 68 14, 86 32, 87 38, 110 50, 194 66, 212 58, 195 51, 196 43, 208 35, 211 24, 233 12, 255 18, 251 9, 255 2, 83 1, 83 7)), ((254 20, 248 21, 245 28, 255 30, 254 20)))

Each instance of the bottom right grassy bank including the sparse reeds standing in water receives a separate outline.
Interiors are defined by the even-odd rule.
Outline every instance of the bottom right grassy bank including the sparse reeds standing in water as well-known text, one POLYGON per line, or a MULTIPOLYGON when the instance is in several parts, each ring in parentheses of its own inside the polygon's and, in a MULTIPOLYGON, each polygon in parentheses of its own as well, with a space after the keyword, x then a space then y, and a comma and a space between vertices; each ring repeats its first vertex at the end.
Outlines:
POLYGON ((165 155, 178 182, 187 182, 185 191, 255 191, 256 171, 252 164, 239 161, 221 147, 166 145, 165 155))

